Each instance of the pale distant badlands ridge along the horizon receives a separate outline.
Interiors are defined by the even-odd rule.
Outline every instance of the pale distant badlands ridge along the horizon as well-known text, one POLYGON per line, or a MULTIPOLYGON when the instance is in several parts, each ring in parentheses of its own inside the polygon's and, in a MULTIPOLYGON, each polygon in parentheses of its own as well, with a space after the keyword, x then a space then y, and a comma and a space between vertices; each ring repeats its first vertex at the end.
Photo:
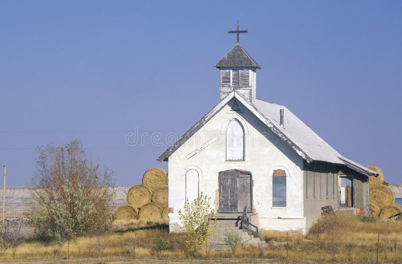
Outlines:
MULTIPOLYGON (((390 184, 396 197, 402 198, 402 184, 390 184)), ((0 187, 1 188, 1 187, 0 187)), ((24 201, 29 201, 29 186, 9 186, 6 188, 6 218, 20 217, 24 211, 24 201)), ((126 203, 129 186, 117 186, 116 195, 113 199, 116 208, 126 203)), ((3 188, 0 190, 0 207, 3 205, 3 188)), ((0 209, 1 211, 1 209, 0 209)))

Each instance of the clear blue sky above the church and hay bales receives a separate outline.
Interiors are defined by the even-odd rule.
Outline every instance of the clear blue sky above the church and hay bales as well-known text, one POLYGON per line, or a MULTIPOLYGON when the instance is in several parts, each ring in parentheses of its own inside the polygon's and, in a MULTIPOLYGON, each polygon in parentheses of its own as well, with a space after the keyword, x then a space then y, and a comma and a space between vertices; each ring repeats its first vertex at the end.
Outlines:
POLYGON ((235 44, 261 65, 257 97, 286 105, 339 153, 402 183, 400 1, 2 1, 0 164, 28 185, 36 146, 82 141, 141 182, 165 146, 219 100, 213 67, 235 44))

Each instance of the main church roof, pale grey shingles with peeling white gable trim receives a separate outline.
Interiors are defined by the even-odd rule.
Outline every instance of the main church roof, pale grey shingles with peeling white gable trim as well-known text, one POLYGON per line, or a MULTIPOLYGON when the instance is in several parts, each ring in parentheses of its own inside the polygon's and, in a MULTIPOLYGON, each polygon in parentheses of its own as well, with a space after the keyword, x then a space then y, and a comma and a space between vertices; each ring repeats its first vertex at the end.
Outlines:
POLYGON ((166 161, 173 152, 184 144, 184 142, 194 135, 199 128, 207 123, 233 98, 236 98, 242 105, 255 114, 256 117, 273 131, 273 133, 290 145, 290 147, 308 163, 318 161, 346 165, 348 168, 366 176, 378 175, 378 173, 340 155, 285 106, 259 99, 256 99, 254 106, 243 95, 236 91, 231 92, 228 96, 223 98, 213 109, 211 109, 211 111, 198 120, 198 122, 195 123, 175 144, 158 158, 158 161, 166 161), (279 125, 280 109, 284 109, 285 118, 283 127, 279 125))

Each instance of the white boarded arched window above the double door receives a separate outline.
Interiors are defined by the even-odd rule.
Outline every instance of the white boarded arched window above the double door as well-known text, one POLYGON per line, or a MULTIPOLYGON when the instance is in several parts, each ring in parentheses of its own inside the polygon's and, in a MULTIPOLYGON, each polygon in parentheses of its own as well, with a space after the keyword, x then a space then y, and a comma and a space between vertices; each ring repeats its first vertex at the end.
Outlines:
POLYGON ((236 118, 226 129, 226 160, 244 161, 244 128, 236 118))

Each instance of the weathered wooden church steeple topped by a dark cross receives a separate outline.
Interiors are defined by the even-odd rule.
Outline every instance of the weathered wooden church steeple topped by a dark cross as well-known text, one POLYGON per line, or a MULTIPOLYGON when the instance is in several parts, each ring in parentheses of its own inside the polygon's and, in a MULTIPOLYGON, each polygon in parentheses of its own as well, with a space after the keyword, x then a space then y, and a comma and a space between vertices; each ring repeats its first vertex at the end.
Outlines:
POLYGON ((244 95, 253 105, 256 98, 256 70, 260 65, 239 44, 239 33, 248 33, 247 30, 228 31, 237 34, 236 45, 215 65, 220 72, 220 100, 234 89, 244 95))

